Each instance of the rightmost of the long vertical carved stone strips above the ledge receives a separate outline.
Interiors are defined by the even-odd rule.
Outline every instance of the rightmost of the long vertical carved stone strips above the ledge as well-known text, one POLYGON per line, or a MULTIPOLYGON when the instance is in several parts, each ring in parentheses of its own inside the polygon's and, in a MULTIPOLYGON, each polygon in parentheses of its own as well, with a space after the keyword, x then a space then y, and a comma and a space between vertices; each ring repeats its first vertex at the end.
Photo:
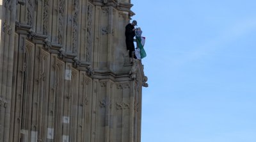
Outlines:
POLYGON ((93 15, 93 7, 88 5, 88 13, 87 13, 87 45, 86 45, 86 61, 91 61, 91 51, 92 51, 92 15, 93 15))

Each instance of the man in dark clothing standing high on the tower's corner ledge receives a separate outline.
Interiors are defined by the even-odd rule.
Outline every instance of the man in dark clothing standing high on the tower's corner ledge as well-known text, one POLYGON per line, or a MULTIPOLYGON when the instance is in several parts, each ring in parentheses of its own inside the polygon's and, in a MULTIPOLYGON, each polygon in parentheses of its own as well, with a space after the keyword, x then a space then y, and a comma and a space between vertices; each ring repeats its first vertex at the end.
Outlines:
POLYGON ((137 26, 137 21, 133 20, 132 23, 127 24, 125 26, 125 43, 126 43, 126 48, 129 51, 129 57, 130 61, 132 62, 132 58, 134 58, 134 42, 133 38, 135 36, 135 28, 134 26, 137 26))

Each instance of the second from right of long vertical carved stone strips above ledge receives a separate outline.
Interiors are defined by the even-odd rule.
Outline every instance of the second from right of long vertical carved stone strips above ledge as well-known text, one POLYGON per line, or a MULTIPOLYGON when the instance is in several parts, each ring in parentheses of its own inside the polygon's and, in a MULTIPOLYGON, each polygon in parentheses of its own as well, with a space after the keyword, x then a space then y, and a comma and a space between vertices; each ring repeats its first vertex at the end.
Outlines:
POLYGON ((78 0, 74 0, 74 14, 73 14, 73 31, 72 31, 72 45, 73 51, 77 52, 77 17, 78 17, 78 0))

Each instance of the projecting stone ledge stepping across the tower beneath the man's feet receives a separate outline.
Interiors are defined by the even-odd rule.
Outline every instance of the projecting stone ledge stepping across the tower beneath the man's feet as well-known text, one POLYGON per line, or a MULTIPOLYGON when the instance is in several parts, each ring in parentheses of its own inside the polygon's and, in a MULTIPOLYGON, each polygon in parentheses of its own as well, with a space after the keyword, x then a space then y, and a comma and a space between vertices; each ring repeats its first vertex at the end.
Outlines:
POLYGON ((67 63, 72 63, 73 67, 78 68, 79 70, 85 71, 88 76, 93 77, 95 79, 103 78, 103 79, 111 79, 113 81, 122 81, 130 78, 131 80, 134 80, 136 79, 136 75, 137 75, 136 71, 138 70, 138 68, 141 68, 140 70, 142 70, 141 74, 143 74, 143 76, 141 77, 142 80, 140 82, 142 86, 148 87, 148 84, 146 83, 147 76, 144 75, 143 65, 141 64, 140 61, 138 61, 138 63, 134 61, 135 64, 132 65, 132 68, 129 74, 126 74, 126 73, 116 74, 115 72, 109 72, 109 71, 99 72, 92 68, 91 63, 79 60, 76 54, 65 52, 62 45, 52 44, 46 35, 36 34, 33 30, 31 30, 31 26, 16 22, 15 29, 17 33, 20 33, 22 35, 27 35, 28 40, 31 40, 33 43, 39 43, 44 45, 45 51, 51 54, 58 54, 58 58, 62 59, 67 63))

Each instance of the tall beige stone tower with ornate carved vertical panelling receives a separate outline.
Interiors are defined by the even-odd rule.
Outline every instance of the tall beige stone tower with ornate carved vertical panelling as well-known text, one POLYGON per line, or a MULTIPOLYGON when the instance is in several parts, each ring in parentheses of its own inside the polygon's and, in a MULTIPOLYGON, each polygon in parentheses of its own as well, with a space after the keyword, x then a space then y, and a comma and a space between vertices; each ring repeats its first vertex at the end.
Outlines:
POLYGON ((140 142, 131 0, 0 0, 0 142, 140 142))

